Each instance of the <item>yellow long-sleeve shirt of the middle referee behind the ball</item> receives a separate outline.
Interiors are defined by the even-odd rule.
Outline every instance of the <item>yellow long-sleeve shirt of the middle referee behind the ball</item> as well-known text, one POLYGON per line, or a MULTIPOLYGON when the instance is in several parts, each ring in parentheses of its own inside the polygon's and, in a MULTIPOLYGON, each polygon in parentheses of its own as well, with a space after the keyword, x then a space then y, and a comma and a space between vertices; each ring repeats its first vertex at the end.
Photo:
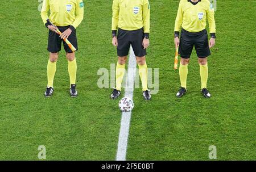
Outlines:
POLYGON ((113 0, 112 30, 133 31, 144 27, 150 32, 150 5, 148 0, 113 0))

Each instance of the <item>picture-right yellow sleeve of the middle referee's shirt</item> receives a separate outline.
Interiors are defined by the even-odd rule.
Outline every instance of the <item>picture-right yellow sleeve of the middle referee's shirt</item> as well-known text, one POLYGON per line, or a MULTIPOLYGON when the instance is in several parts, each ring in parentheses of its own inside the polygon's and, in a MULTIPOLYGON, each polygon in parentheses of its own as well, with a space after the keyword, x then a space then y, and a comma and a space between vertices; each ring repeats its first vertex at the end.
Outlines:
POLYGON ((148 0, 144 0, 142 18, 144 24, 144 33, 150 32, 150 4, 148 0))

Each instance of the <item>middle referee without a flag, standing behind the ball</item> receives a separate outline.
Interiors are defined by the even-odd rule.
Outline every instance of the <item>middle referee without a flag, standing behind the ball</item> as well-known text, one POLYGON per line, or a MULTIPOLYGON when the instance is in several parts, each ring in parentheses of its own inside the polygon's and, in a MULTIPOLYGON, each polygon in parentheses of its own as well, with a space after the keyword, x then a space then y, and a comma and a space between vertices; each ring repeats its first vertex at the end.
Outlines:
POLYGON ((146 48, 149 45, 150 33, 150 4, 148 0, 113 0, 112 9, 112 44, 117 47, 118 62, 115 70, 115 88, 110 98, 117 99, 121 94, 125 62, 131 45, 139 66, 143 98, 150 100, 146 64, 146 48))

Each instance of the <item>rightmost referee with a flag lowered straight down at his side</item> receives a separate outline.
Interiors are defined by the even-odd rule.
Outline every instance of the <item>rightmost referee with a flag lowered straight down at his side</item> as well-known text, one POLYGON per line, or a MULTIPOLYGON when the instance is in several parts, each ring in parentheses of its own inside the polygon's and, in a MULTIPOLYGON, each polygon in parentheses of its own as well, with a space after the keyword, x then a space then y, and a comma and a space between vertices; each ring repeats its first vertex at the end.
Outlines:
POLYGON ((180 61, 180 82, 181 89, 176 94, 182 97, 187 92, 188 63, 192 49, 195 45, 201 75, 201 93, 205 98, 210 98, 207 90, 208 65, 207 57, 210 49, 215 44, 216 25, 214 20, 214 9, 208 0, 181 0, 175 21, 175 45, 179 46, 180 61), (210 40, 205 27, 209 22, 210 40), (182 29, 181 29, 182 27, 182 29), (179 33, 181 30, 180 40, 179 33))

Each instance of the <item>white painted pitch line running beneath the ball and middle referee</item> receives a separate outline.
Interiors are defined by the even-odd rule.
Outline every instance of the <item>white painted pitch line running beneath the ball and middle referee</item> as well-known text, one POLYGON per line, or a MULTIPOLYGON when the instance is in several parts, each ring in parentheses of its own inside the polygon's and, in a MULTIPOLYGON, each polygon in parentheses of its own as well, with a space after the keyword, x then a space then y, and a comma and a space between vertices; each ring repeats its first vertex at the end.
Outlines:
MULTIPOLYGON (((133 52, 133 48, 130 47, 128 72, 127 72, 126 86, 125 86, 125 97, 129 97, 130 99, 133 99, 136 66, 137 66, 137 62, 136 62, 135 54, 133 52)), ((127 150, 128 136, 129 136, 130 120, 131 120, 131 111, 122 112, 121 127, 119 132, 117 157, 116 157, 117 161, 126 160, 126 150, 127 150)))

